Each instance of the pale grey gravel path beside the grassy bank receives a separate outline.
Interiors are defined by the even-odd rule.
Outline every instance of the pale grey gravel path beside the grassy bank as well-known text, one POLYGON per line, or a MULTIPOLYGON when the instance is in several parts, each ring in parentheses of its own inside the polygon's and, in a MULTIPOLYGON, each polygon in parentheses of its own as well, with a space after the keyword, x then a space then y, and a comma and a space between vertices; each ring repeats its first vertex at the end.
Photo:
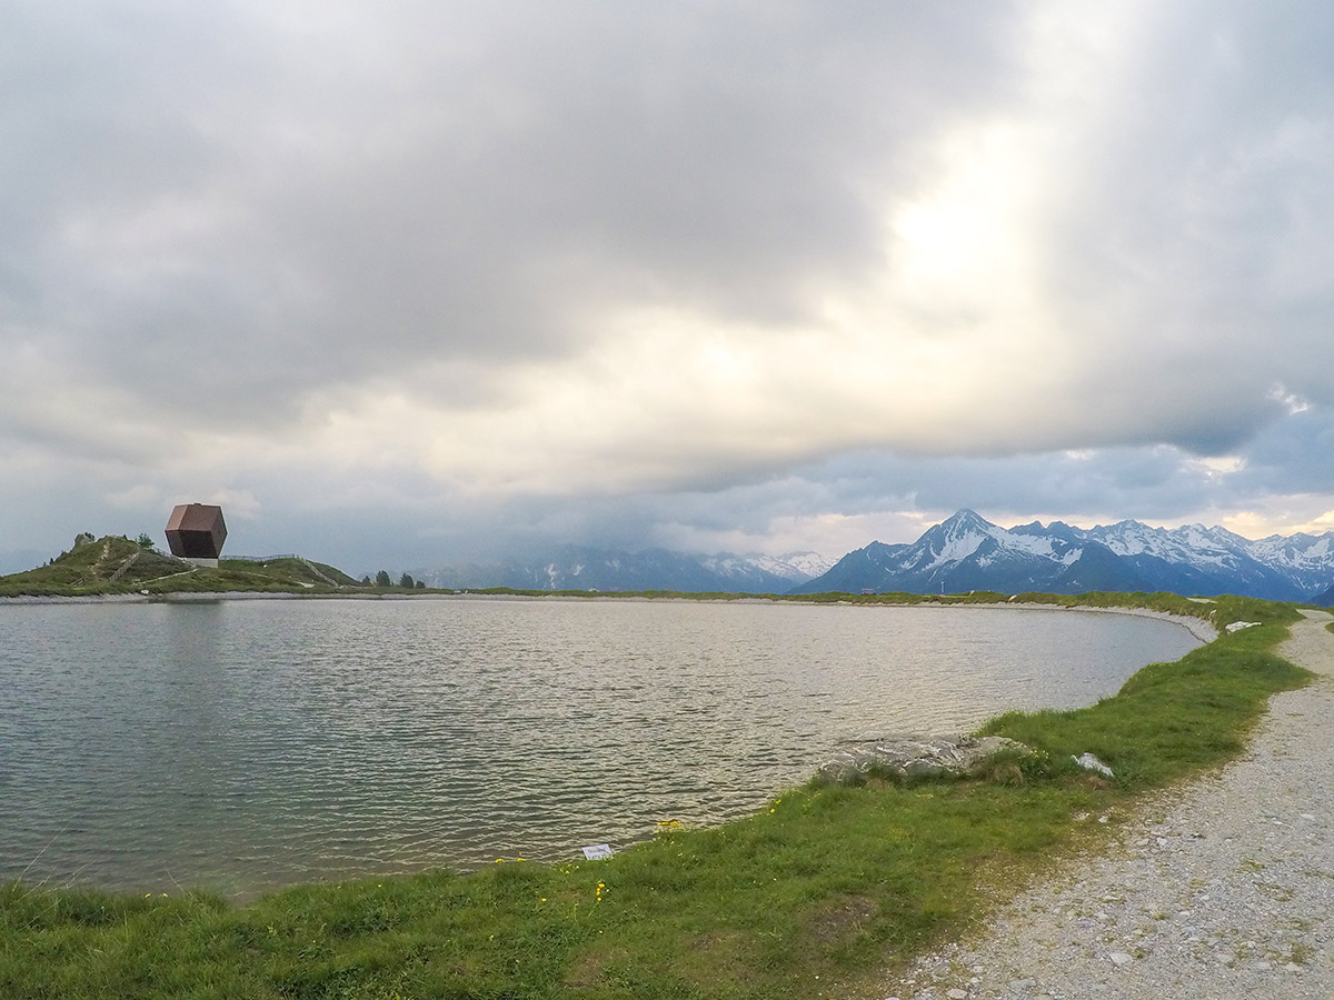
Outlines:
POLYGON ((1334 1000, 1334 635, 1306 613, 1279 652, 1321 677, 1270 701, 1245 757, 876 996, 1334 1000))

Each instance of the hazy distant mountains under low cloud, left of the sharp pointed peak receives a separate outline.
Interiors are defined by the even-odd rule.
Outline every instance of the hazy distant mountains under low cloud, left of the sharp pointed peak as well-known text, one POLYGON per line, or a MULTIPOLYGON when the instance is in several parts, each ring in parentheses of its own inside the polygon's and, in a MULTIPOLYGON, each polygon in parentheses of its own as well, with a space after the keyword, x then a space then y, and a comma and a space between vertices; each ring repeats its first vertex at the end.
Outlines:
POLYGON ((814 552, 700 556, 666 549, 616 552, 566 545, 532 559, 452 565, 420 576, 431 587, 455 589, 786 593, 831 565, 832 560, 814 552))

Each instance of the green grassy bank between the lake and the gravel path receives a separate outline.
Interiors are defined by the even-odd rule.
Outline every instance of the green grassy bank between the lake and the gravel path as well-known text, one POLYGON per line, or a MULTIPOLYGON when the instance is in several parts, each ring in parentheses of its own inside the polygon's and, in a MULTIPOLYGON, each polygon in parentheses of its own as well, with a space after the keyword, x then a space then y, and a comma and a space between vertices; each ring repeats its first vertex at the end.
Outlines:
POLYGON ((1306 680, 1273 652, 1293 605, 1139 603, 1261 624, 1151 664, 1097 705, 1000 716, 986 731, 1038 753, 979 780, 811 784, 723 827, 664 828, 607 861, 504 859, 239 908, 195 892, 3 887, 0 996, 846 996, 964 929, 1053 857, 1095 848, 1145 792, 1235 755, 1266 699, 1306 680), (1114 768, 1111 783, 1074 767, 1085 751, 1114 768))

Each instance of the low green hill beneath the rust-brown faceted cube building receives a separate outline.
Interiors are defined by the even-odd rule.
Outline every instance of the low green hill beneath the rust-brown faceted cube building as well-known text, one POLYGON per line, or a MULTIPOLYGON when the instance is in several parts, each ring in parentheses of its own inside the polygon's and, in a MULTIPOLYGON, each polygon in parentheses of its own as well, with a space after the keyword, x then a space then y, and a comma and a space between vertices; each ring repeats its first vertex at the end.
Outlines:
POLYGON ((296 557, 267 563, 224 559, 212 569, 115 536, 76 545, 44 567, 0 576, 0 597, 223 591, 339 593, 348 588, 363 589, 358 580, 323 563, 296 557))

